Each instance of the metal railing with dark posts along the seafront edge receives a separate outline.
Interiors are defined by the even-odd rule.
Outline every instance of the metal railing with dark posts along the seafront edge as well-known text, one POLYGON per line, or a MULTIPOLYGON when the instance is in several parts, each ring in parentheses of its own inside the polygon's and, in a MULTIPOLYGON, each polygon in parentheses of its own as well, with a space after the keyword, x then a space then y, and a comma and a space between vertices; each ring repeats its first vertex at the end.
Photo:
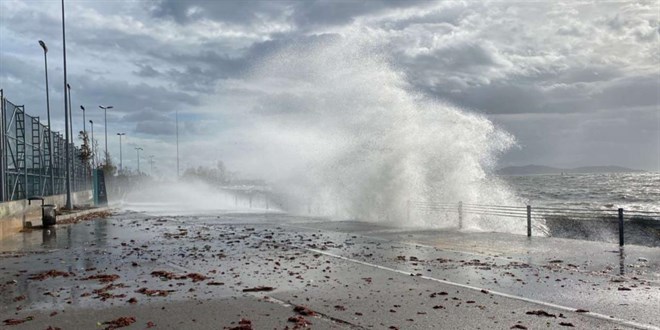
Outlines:
MULTIPOLYGON (((505 205, 485 205, 485 204, 472 204, 472 203, 436 203, 436 202, 421 202, 421 201, 408 201, 407 202, 407 217, 410 221, 411 210, 420 210, 431 213, 455 213, 458 217, 458 228, 463 229, 463 222, 466 214, 472 215, 485 215, 497 216, 506 218, 526 219, 527 221, 527 236, 532 236, 532 228, 535 223, 533 220, 537 219, 569 219, 579 221, 589 220, 617 220, 619 245, 624 245, 624 218, 628 219, 651 219, 660 221, 659 212, 651 211, 636 211, 626 210, 623 208, 611 210, 597 210, 597 209, 577 209, 577 208, 557 208, 557 207, 532 207, 526 206, 505 206, 505 205)), ((542 230, 540 226, 536 227, 537 230, 542 230)))

